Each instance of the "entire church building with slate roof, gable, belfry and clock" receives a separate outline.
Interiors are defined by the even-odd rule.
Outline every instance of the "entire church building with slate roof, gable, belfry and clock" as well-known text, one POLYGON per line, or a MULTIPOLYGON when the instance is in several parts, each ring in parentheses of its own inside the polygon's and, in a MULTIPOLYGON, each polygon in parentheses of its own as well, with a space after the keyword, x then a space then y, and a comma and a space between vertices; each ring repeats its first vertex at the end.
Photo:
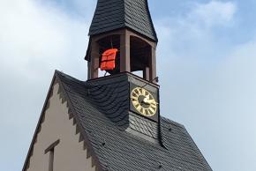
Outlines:
POLYGON ((161 115, 157 42, 147 0, 98 0, 87 81, 55 72, 22 171, 212 171, 161 115))

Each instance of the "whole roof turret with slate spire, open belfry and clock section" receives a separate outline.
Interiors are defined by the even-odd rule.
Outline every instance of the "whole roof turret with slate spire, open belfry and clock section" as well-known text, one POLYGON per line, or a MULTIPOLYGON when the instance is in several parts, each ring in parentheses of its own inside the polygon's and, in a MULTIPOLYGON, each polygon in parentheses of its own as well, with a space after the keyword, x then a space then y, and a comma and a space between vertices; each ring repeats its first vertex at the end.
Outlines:
MULTIPOLYGON (((124 130, 161 143, 159 85, 155 84, 158 80, 155 56, 157 36, 147 0, 99 0, 89 36, 86 55, 88 82, 109 89, 115 87, 116 90, 126 87, 127 90, 122 107, 118 107, 120 102, 117 97, 118 101, 108 104, 123 108, 122 113, 114 110, 114 113, 108 114, 110 119, 119 120, 115 123, 122 125, 124 130), (99 79, 99 70, 106 71, 110 76, 99 79), (134 71, 141 71, 142 78, 132 74, 134 71), (115 85, 121 78, 126 85, 115 85), (115 115, 114 119, 112 115, 115 115)), ((111 94, 106 92, 105 96, 111 94)), ((102 102, 106 101, 109 100, 102 102)))

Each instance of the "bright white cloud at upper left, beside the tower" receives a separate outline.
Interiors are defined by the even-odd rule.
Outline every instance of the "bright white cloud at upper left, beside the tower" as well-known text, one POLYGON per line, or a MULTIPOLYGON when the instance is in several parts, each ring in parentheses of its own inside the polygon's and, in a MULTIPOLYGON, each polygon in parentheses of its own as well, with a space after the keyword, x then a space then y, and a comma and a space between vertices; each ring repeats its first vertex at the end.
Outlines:
POLYGON ((86 21, 72 19, 56 8, 30 0, 7 1, 0 8, 2 68, 29 76, 35 74, 36 78, 37 67, 49 71, 53 65, 67 66, 66 61, 74 57, 73 53, 84 55, 80 50, 82 46, 86 50, 86 21), (85 37, 84 41, 78 39, 80 36, 85 37))

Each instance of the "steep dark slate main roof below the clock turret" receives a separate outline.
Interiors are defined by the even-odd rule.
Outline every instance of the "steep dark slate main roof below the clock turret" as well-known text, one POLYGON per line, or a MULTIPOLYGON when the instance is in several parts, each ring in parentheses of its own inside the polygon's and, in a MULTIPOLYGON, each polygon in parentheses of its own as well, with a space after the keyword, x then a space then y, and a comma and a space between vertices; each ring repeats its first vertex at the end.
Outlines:
POLYGON ((123 109, 128 107, 122 106, 122 101, 127 100, 124 99, 126 97, 124 92, 128 91, 127 89, 121 91, 125 86, 122 80, 119 84, 106 86, 107 88, 103 90, 101 83, 93 85, 59 71, 56 71, 55 76, 63 87, 62 91, 66 94, 66 98, 72 103, 71 108, 75 110, 76 118, 79 120, 77 122, 82 125, 83 131, 87 134, 103 169, 111 171, 212 170, 184 126, 179 123, 161 118, 163 146, 123 130, 125 124, 122 124, 122 116, 125 119, 126 115, 122 113, 123 109), (117 108, 111 107, 113 112, 103 109, 112 102, 116 103, 115 101, 120 102, 117 103, 119 104, 117 108))

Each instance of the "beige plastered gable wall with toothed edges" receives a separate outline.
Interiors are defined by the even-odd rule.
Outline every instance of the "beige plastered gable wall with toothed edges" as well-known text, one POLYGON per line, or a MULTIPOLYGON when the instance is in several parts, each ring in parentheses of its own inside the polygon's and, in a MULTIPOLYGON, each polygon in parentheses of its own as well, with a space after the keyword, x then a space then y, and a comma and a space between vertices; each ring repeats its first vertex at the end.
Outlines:
POLYGON ((69 119, 67 102, 62 103, 58 88, 58 84, 54 85, 27 171, 49 171, 49 152, 45 154, 45 150, 57 139, 60 143, 54 150, 54 171, 95 171, 92 159, 87 159, 84 142, 79 143, 76 125, 73 125, 73 119, 69 119))

